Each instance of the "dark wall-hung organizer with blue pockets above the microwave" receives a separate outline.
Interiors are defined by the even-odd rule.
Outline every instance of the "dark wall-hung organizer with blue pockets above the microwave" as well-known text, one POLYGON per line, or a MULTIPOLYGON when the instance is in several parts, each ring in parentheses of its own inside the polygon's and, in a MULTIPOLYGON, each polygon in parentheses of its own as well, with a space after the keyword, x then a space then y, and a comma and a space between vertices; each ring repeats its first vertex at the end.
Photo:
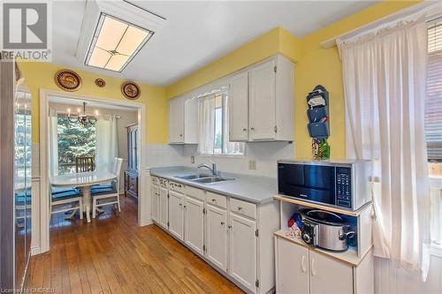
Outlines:
POLYGON ((317 85, 307 95, 307 128, 312 138, 312 155, 316 160, 330 159, 330 145, 327 139, 330 136, 329 92, 325 87, 317 85))

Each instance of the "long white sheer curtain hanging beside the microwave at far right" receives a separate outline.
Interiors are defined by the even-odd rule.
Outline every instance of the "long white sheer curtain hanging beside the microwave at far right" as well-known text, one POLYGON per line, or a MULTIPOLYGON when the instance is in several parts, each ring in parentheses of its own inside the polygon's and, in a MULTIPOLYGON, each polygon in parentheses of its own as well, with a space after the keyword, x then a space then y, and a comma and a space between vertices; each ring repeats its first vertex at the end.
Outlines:
POLYGON ((427 32, 423 19, 339 42, 347 157, 374 159, 377 256, 428 271, 430 205, 424 132, 427 32))

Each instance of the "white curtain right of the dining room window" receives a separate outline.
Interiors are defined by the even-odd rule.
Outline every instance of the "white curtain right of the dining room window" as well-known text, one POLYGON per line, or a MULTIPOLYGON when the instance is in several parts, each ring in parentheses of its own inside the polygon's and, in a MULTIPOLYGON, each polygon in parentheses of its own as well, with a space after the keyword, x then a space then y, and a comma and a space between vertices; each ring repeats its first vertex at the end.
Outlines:
POLYGON ((117 117, 100 117, 95 124, 95 170, 112 170, 118 157, 117 117))

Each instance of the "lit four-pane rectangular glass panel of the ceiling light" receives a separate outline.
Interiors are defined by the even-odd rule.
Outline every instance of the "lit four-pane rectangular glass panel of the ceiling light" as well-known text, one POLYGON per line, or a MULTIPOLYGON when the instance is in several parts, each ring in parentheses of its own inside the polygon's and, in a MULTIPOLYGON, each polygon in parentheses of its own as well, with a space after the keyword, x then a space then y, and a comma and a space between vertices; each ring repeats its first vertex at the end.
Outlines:
POLYGON ((122 72, 154 32, 102 13, 86 65, 122 72))

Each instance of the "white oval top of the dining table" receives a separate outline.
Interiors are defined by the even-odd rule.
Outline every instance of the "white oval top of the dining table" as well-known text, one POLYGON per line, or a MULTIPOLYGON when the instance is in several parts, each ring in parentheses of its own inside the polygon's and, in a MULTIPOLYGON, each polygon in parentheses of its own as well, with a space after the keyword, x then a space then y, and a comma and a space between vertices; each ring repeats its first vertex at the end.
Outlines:
POLYGON ((50 177, 50 185, 59 187, 80 187, 110 181, 117 176, 109 171, 87 171, 50 177))

